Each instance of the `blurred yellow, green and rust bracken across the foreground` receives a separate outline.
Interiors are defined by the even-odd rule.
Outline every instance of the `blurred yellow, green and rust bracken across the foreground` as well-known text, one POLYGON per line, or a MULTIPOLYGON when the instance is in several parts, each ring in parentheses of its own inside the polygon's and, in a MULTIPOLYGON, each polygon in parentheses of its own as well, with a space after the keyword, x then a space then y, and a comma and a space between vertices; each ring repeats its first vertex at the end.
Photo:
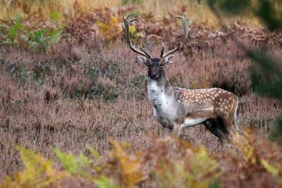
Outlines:
MULTIPOLYGON (((56 168, 53 160, 47 160, 31 149, 16 146, 23 161, 23 172, 0 180, 0 187, 58 187, 66 181, 75 180, 80 184, 73 187, 97 186, 119 187, 226 187, 226 181, 243 181, 248 178, 270 176, 271 185, 282 185, 282 163, 268 151, 277 151, 269 142, 257 140, 251 132, 246 137, 235 136, 234 151, 209 153, 204 146, 195 148, 179 139, 152 137, 152 146, 142 151, 130 151, 131 146, 110 141, 113 149, 102 158, 92 147, 78 156, 54 149, 63 169, 56 168), (255 144, 254 144, 255 143, 255 144), (177 153, 173 153, 173 145, 177 153), (157 149, 157 150, 156 150, 157 149), (261 151, 261 152, 260 152, 261 151), (173 157, 171 157, 173 155, 173 157), (242 156, 242 157, 238 157, 242 156), (236 169, 228 174, 228 167, 236 169), (238 178, 238 179, 234 179, 238 178)), ((269 183, 269 179, 257 184, 269 183)))

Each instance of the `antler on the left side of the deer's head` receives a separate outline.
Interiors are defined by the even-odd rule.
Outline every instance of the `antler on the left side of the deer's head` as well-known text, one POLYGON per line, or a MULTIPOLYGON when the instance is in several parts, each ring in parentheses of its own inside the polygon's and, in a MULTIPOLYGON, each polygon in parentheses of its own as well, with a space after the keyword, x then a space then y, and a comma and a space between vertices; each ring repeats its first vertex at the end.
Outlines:
POLYGON ((140 46, 141 50, 137 50, 135 49, 135 46, 133 46, 131 40, 130 40, 130 33, 129 33, 129 25, 130 23, 134 22, 135 20, 137 20, 136 18, 132 18, 130 19, 130 15, 128 15, 128 17, 125 19, 123 17, 123 23, 121 24, 123 27, 123 32, 124 32, 124 38, 126 40, 126 42, 128 42, 130 49, 132 49, 133 51, 135 51, 137 54, 140 54, 142 56, 145 56, 147 58, 152 58, 143 48, 142 46, 140 46))

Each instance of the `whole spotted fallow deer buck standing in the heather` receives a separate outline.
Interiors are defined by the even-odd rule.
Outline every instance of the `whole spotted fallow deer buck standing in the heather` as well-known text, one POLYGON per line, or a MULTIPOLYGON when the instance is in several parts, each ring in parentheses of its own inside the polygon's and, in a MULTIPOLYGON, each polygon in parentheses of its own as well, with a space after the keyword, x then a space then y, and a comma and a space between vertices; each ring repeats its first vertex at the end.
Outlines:
POLYGON ((153 58, 140 46, 136 49, 130 40, 129 25, 135 18, 123 18, 124 37, 130 49, 137 54, 138 61, 147 65, 147 88, 149 100, 154 108, 154 117, 163 127, 179 136, 182 127, 191 127, 203 123, 220 141, 228 141, 228 136, 235 125, 238 97, 220 88, 183 89, 172 87, 166 77, 165 67, 172 63, 176 51, 183 48, 188 37, 189 19, 186 15, 177 16, 183 22, 184 36, 182 43, 175 49, 153 58))

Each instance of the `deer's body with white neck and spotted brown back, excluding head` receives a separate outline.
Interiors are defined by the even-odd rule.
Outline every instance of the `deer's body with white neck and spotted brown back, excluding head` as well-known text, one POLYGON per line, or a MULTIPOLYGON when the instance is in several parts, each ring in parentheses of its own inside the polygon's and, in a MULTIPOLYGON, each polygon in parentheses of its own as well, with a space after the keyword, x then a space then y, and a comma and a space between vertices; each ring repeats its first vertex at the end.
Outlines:
POLYGON ((154 116, 176 134, 180 134, 182 127, 203 123, 226 141, 235 125, 238 97, 226 90, 171 87, 164 75, 159 80, 148 78, 148 92, 154 116))

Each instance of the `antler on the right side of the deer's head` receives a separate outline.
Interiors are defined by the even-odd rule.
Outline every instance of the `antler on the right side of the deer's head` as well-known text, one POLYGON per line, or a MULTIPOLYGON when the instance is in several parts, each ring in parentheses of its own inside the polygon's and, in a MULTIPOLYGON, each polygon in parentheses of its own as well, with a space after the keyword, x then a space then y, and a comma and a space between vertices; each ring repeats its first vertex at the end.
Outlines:
POLYGON ((187 40, 187 36, 188 36, 188 32, 190 31, 189 25, 190 25, 190 21, 189 18, 187 18, 187 16, 183 13, 182 16, 177 15, 177 18, 180 18, 182 20, 183 23, 183 30, 184 30, 184 35, 183 35, 183 39, 182 39, 182 43, 180 44, 180 46, 176 47, 175 49, 168 51, 164 54, 164 44, 163 44, 163 49, 161 49, 161 58, 164 58, 170 54, 173 54, 174 52, 180 50, 183 48, 183 46, 186 44, 186 40, 187 40))

